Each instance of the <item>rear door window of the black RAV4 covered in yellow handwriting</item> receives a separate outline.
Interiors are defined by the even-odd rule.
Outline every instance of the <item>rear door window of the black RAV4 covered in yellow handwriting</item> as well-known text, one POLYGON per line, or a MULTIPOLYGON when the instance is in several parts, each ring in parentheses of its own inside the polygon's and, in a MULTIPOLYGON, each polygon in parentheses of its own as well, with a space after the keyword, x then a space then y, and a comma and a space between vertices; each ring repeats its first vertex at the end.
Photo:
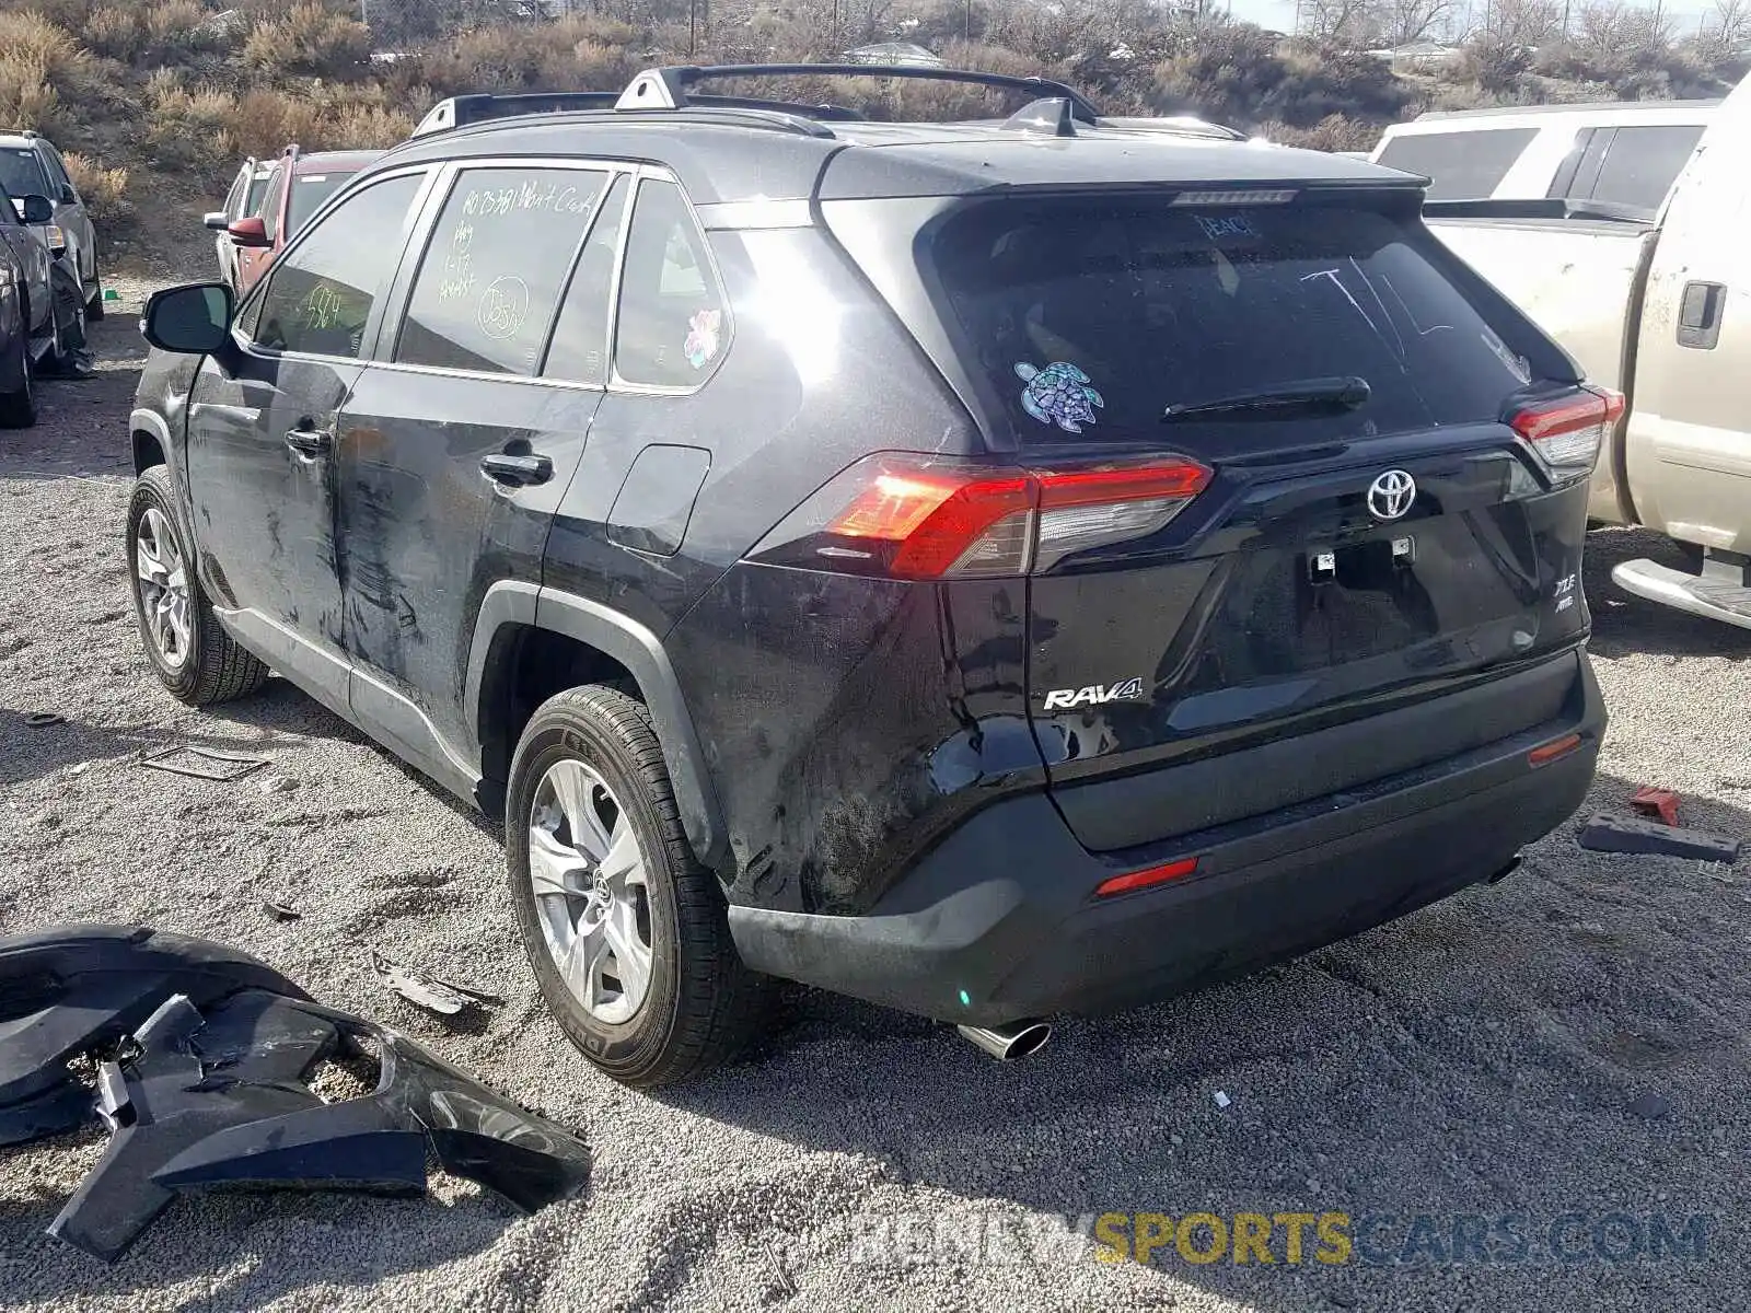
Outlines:
POLYGON ((396 361, 532 375, 606 186, 606 173, 571 168, 457 175, 413 280, 396 361))

